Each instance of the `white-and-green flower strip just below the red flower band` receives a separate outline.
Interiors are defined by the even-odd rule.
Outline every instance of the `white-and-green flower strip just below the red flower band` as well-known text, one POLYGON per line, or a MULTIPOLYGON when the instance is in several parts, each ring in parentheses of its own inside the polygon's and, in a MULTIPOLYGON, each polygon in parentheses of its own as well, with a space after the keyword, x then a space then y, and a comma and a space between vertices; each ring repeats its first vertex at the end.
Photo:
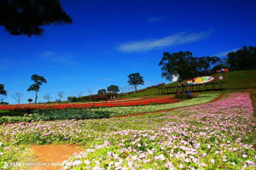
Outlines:
POLYGON ((0 124, 4 122, 33 122, 33 121, 55 121, 67 119, 98 119, 110 116, 124 116, 134 113, 145 113, 152 111, 164 111, 189 105, 199 105, 218 97, 219 94, 200 94, 195 99, 185 100, 162 105, 139 105, 139 106, 119 106, 107 108, 66 108, 54 110, 37 110, 25 116, 2 116, 0 124))

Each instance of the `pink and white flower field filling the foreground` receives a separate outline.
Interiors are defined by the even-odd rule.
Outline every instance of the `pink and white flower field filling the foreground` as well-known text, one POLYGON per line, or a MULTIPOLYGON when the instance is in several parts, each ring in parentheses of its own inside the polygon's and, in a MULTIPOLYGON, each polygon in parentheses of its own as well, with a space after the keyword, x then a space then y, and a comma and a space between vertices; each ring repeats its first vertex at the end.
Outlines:
POLYGON ((0 168, 29 144, 65 142, 87 149, 62 169, 255 169, 255 126, 249 94, 239 93, 169 113, 1 125, 0 168))

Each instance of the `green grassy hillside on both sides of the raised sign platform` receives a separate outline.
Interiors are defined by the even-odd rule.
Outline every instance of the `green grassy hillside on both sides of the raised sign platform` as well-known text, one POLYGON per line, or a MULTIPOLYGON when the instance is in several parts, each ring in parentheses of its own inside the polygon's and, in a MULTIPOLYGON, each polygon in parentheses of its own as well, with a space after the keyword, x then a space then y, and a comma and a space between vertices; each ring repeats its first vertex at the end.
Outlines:
MULTIPOLYGON (((218 74, 212 75, 218 77, 218 74)), ((256 70, 253 71, 230 71, 225 73, 224 90, 256 88, 256 70)), ((176 86, 177 82, 166 84, 162 87, 176 86)), ((141 89, 142 92, 129 94, 123 97, 138 97, 158 95, 158 88, 141 89)))

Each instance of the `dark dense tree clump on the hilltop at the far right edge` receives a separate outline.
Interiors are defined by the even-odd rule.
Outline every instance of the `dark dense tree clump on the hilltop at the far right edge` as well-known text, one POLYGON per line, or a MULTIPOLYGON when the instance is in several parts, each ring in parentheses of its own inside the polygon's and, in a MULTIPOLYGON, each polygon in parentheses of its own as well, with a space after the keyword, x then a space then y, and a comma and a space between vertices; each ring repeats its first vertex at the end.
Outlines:
POLYGON ((228 54, 227 64, 230 71, 243 71, 256 69, 256 48, 242 47, 236 52, 228 54))

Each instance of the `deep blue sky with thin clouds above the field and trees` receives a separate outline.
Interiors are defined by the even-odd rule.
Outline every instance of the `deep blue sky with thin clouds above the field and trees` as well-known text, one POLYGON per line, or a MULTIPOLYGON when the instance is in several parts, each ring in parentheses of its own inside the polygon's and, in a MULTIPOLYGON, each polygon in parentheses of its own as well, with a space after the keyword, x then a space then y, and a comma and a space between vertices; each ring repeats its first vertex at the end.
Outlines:
POLYGON ((43 37, 10 36, 0 26, 0 77, 11 95, 27 92, 33 74, 47 84, 39 91, 56 99, 96 94, 118 85, 128 89, 127 76, 140 72, 148 87, 167 82, 158 63, 164 52, 194 56, 218 55, 244 45, 256 46, 256 2, 236 0, 61 0, 73 19, 68 26, 44 26, 43 37))

